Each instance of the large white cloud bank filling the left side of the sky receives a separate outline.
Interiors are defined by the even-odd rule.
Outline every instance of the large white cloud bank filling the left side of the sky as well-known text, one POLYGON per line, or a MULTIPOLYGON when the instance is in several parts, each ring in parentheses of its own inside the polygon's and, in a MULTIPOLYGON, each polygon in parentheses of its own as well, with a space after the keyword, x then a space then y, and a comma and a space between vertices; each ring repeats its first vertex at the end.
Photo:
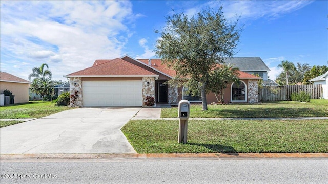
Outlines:
POLYGON ((1 1, 0 6, 1 70, 25 79, 42 63, 59 80, 95 59, 121 56, 133 35, 129 24, 141 16, 134 16, 129 1, 1 1), (30 65, 13 64, 16 60, 30 65))

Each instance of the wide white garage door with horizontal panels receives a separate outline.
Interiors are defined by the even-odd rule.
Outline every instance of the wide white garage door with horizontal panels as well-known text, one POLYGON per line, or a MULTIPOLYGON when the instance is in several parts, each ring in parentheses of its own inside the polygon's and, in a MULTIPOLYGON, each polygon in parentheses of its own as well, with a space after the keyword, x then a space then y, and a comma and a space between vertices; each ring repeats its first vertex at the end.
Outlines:
POLYGON ((83 81, 84 107, 142 106, 142 81, 83 81))

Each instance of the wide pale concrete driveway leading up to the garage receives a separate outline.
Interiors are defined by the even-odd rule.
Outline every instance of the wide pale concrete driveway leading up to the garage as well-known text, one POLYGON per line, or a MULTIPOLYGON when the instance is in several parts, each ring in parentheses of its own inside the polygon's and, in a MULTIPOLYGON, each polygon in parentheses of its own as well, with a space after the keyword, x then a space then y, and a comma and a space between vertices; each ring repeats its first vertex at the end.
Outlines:
POLYGON ((76 108, 4 127, 0 153, 136 153, 120 128, 140 109, 76 108))

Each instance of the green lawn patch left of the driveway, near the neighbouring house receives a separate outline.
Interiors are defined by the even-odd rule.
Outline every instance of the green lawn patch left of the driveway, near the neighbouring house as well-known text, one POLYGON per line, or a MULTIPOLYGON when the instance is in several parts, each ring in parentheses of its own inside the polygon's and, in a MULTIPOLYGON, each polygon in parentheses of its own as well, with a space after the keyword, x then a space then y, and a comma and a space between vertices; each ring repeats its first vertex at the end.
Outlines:
POLYGON ((0 119, 41 118, 68 109, 70 108, 56 107, 55 103, 42 101, 11 104, 0 107, 0 119))

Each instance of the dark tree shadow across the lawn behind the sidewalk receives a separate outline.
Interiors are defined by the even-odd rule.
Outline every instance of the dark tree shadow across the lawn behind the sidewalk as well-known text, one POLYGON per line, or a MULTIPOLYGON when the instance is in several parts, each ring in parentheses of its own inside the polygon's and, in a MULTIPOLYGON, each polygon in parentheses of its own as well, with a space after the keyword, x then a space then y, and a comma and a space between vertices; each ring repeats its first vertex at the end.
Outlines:
POLYGON ((207 114, 215 117, 229 118, 275 118, 275 117, 326 117, 327 111, 312 108, 250 108, 241 109, 210 109, 207 114))

